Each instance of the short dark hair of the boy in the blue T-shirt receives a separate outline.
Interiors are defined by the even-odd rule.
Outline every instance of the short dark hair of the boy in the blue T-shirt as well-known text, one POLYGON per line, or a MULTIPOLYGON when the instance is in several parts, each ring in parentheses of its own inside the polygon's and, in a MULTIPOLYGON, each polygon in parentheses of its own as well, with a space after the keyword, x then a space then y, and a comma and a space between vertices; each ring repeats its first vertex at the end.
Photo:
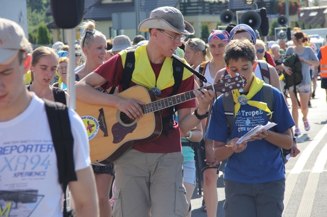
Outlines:
POLYGON ((252 64, 255 62, 255 47, 250 41, 234 39, 226 45, 224 51, 226 65, 228 66, 231 59, 237 61, 239 58, 245 61, 251 61, 252 64))

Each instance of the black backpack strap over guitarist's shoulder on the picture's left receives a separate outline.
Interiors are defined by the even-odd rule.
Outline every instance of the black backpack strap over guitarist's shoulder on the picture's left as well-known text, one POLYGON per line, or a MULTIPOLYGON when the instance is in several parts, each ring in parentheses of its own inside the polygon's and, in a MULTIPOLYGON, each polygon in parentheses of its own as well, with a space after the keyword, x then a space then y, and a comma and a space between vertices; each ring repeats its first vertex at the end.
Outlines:
POLYGON ((122 88, 126 90, 132 80, 132 75, 135 68, 135 49, 128 50, 126 53, 126 60, 123 72, 122 88))

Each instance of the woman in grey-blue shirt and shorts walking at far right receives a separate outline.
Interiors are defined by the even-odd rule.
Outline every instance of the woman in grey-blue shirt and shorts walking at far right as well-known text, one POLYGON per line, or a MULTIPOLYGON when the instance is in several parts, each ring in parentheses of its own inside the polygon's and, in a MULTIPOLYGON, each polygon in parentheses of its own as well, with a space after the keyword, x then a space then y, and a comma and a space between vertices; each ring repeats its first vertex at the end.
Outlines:
MULTIPOLYGON (((294 46, 287 48, 285 55, 296 53, 301 61, 302 65, 302 82, 296 86, 296 93, 299 92, 301 112, 303 114, 302 121, 304 123, 305 130, 310 129, 309 122, 307 120, 308 115, 308 102, 310 99, 311 90, 311 76, 310 76, 310 65, 319 66, 319 59, 310 46, 305 46, 307 37, 301 31, 296 31, 292 36, 294 46)), ((291 68, 283 66, 286 74, 291 74, 291 68)), ((299 104, 297 101, 296 93, 294 93, 294 87, 290 87, 288 92, 292 101, 292 116, 295 122, 295 136, 301 134, 299 129, 299 104)))

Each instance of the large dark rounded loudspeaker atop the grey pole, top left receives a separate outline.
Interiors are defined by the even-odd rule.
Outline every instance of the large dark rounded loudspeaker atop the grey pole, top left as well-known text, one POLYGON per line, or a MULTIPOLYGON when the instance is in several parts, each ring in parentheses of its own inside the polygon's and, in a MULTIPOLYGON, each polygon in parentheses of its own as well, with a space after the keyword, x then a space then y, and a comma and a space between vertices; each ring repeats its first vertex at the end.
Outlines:
POLYGON ((84 15, 84 0, 50 0, 51 11, 56 25, 72 29, 80 24, 84 15))

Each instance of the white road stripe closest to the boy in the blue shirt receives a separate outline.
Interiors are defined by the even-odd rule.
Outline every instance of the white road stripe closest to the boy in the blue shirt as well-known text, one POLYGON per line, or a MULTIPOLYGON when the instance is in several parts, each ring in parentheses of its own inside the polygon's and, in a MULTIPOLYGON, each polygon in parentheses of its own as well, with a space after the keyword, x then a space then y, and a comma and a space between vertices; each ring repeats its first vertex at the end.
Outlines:
POLYGON ((296 184, 299 174, 303 171, 303 168, 306 165, 307 160, 309 159, 312 151, 319 144, 319 142, 324 138, 326 133, 327 133, 327 125, 325 125, 317 133, 317 135, 313 138, 311 143, 309 145, 307 145, 306 149, 301 151, 301 154, 300 154, 299 158, 297 159, 294 167, 292 168, 292 170, 286 177, 286 189, 285 189, 285 194, 284 194, 284 210, 286 210, 286 206, 291 197, 291 194, 293 192, 293 189, 294 189, 294 186, 296 184))

